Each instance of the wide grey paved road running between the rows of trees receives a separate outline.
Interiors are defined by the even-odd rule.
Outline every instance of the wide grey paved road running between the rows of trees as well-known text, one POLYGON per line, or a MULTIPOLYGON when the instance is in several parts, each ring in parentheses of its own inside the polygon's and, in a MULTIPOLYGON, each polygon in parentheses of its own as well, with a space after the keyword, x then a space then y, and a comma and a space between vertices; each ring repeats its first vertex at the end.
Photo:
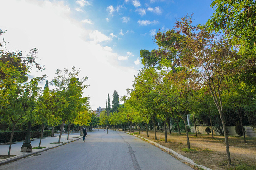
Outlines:
POLYGON ((81 140, 0 166, 1 170, 193 170, 129 134, 100 130, 81 140))

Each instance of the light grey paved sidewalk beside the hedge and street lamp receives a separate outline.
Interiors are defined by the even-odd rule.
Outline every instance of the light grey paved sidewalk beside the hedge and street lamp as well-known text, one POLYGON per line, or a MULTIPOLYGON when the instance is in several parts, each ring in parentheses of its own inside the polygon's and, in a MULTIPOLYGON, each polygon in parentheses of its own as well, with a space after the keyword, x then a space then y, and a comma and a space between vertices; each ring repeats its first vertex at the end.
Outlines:
MULTIPOLYGON (((13 142, 12 146, 11 146, 11 155, 15 155, 15 156, 7 158, 7 159, 0 159, 0 165, 12 162, 12 161, 17 160, 17 159, 27 157, 29 155, 33 155, 33 154, 36 154, 36 153, 39 153, 39 152, 43 152, 43 151, 46 151, 48 149, 52 149, 52 148, 58 147, 60 145, 64 145, 66 143, 76 141, 76 140, 79 140, 79 139, 82 138, 82 136, 80 136, 79 132, 78 133, 70 133, 69 134, 69 140, 66 140, 67 136, 68 136, 67 133, 62 134, 62 137, 61 137, 61 140, 60 140, 60 142, 62 142, 62 143, 55 143, 55 144, 52 144, 52 143, 58 142, 59 134, 55 134, 55 136, 53 136, 53 137, 42 138, 40 147, 46 147, 46 148, 32 149, 31 152, 20 152, 23 141, 13 142)), ((32 147, 38 147, 39 142, 40 142, 40 138, 31 139, 31 146, 32 147)), ((0 155, 8 155, 8 150, 9 150, 9 144, 7 144, 7 145, 6 144, 0 144, 0 155)))

